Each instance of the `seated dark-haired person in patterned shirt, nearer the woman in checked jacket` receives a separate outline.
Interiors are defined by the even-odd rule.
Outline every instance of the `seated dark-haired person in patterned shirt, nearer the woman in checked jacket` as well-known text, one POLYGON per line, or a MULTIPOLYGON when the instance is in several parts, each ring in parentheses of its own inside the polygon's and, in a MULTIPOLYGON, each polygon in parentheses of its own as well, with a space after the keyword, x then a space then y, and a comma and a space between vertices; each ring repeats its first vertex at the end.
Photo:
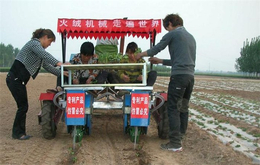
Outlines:
MULTIPOLYGON (((94 45, 84 42, 80 47, 80 53, 71 60, 72 64, 96 64, 98 56, 94 54, 94 45)), ((107 79, 107 72, 100 70, 75 70, 73 84, 103 84, 107 79)))

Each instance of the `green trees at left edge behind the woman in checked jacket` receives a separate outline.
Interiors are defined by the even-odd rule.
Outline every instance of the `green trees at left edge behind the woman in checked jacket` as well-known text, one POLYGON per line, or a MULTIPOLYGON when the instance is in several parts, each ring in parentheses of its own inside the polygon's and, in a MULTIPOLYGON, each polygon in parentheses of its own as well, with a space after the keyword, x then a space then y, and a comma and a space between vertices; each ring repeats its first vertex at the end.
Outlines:
POLYGON ((10 67, 20 50, 11 44, 0 44, 0 67, 10 67))

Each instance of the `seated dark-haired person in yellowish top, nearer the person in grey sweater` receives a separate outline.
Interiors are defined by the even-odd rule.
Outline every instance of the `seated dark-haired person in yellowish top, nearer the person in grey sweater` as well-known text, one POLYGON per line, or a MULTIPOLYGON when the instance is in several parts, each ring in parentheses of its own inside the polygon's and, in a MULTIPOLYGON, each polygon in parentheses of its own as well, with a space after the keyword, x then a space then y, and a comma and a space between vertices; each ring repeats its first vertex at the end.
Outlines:
MULTIPOLYGON (((126 47, 126 54, 120 60, 120 63, 145 63, 144 59, 136 60, 138 46, 135 42, 130 42, 126 47)), ((119 70, 118 76, 125 83, 142 83, 143 76, 141 69, 119 70)), ((150 71, 147 77, 147 86, 153 86, 157 78, 156 71, 150 71)))

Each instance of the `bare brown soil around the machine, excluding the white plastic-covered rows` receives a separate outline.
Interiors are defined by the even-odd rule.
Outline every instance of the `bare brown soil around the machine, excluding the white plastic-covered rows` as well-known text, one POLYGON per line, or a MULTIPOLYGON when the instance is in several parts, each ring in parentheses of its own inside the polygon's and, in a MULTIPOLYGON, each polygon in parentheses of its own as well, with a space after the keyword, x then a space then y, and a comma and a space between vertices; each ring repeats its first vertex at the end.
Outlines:
MULTIPOLYGON (((140 137, 140 142, 134 149, 129 135, 123 133, 123 118, 121 111, 102 111, 93 115, 91 135, 83 137, 81 144, 72 149, 73 141, 64 122, 59 122, 57 135, 52 140, 42 136, 37 114, 41 106, 40 93, 52 89, 56 77, 41 73, 36 80, 27 84, 29 110, 27 113, 27 134, 33 137, 21 141, 12 139, 12 124, 16 113, 16 103, 5 83, 6 73, 0 73, 0 164, 12 165, 58 165, 58 164, 100 164, 100 165, 249 165, 252 160, 231 146, 220 142, 215 136, 200 129, 195 123, 189 122, 187 135, 183 140, 183 152, 173 153, 160 149, 161 143, 168 142, 158 138, 157 126, 153 118, 147 135, 140 137)), ((215 81, 215 77, 196 76, 200 80, 215 81)), ((162 79, 158 78, 157 83, 162 79)), ((232 81, 232 80, 230 80, 232 81)), ((242 80, 241 81, 247 81, 242 80)), ((240 81, 237 81, 240 82, 240 81)), ((195 83, 195 86, 196 86, 195 83)), ((154 86, 155 91, 167 91, 167 87, 154 86)), ((196 88, 194 88, 196 91, 196 88)), ((198 89, 202 91, 203 89, 198 89)), ((205 89, 204 92, 208 90, 205 89)), ((260 92, 243 90, 225 90, 208 92, 225 92, 237 97, 260 102, 260 92)), ((195 105, 191 105, 195 108, 195 105)), ((199 108, 199 107, 197 107, 199 108)), ((216 116, 217 117, 217 116, 216 116)), ((259 129, 259 128, 255 128, 259 129)))

